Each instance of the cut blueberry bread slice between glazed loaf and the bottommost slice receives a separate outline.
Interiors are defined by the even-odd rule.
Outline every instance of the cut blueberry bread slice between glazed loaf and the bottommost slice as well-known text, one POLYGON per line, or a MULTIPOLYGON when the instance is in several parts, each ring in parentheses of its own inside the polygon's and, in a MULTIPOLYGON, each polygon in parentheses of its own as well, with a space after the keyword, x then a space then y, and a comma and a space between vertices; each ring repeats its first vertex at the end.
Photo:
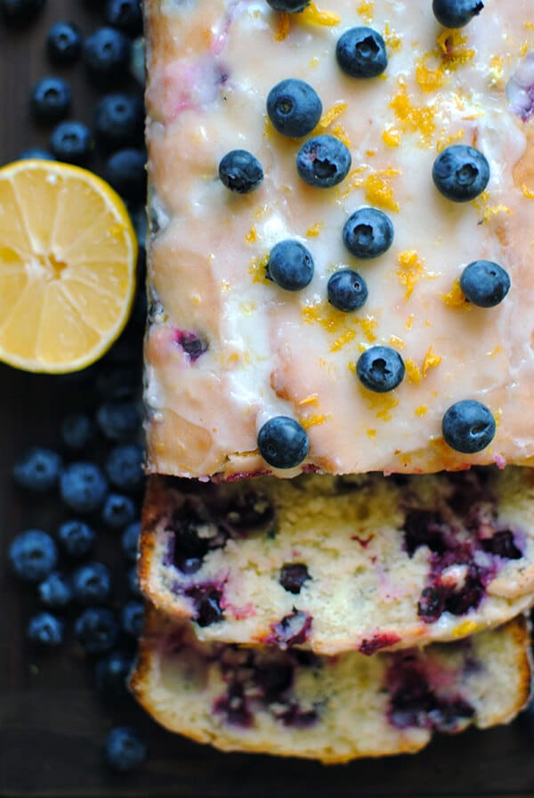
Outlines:
POLYGON ((534 597, 534 470, 150 477, 142 590, 200 639, 425 645, 504 623, 534 597))

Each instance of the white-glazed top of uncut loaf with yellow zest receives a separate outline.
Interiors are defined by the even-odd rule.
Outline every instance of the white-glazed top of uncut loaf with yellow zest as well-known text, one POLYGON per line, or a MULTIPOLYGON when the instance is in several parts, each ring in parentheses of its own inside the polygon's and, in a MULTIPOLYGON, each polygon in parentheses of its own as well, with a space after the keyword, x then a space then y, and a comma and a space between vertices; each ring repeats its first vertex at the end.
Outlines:
POLYGON ((534 462, 530 0, 488 0, 456 30, 434 19, 430 0, 332 0, 328 11, 310 4, 294 14, 265 0, 146 6, 149 470, 270 473, 257 436, 278 416, 295 419, 309 445, 279 476, 534 462), (358 26, 384 37, 388 62, 376 77, 350 77, 336 60, 339 38, 358 26), (266 112, 286 78, 312 85, 322 103, 302 138, 280 134, 266 112), (296 168, 317 135, 335 137, 352 159, 330 188, 296 168), (463 202, 433 182, 435 159, 458 144, 490 167, 485 190, 463 202), (219 179, 236 149, 263 168, 255 191, 219 179), (392 223, 391 246, 372 259, 343 238, 366 207, 392 223), (268 277, 281 240, 312 256, 302 289, 268 277), (481 259, 511 281, 496 306, 467 301, 460 287, 465 266, 481 259), (328 280, 344 268, 368 289, 352 312, 328 302, 328 280), (359 377, 360 356, 376 346, 401 355, 404 377, 390 390, 359 377), (485 405, 496 424, 480 451, 457 451, 442 436, 445 413, 464 400, 485 405))

